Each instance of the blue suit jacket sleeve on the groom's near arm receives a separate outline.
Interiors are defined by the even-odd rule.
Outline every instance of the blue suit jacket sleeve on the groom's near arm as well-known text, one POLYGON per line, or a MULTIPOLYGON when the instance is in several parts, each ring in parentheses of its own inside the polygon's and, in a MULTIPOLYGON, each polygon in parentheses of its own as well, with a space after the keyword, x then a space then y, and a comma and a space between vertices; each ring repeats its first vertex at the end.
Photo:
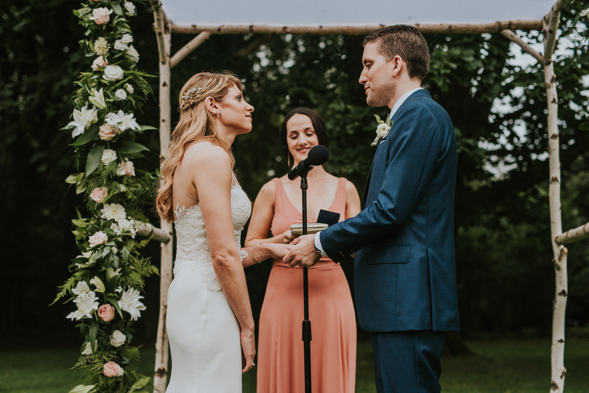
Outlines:
POLYGON ((400 227, 425 196, 442 138, 425 104, 411 101, 403 107, 386 137, 386 151, 379 152, 388 154, 388 166, 378 197, 357 216, 320 233, 323 250, 334 262, 400 227))

